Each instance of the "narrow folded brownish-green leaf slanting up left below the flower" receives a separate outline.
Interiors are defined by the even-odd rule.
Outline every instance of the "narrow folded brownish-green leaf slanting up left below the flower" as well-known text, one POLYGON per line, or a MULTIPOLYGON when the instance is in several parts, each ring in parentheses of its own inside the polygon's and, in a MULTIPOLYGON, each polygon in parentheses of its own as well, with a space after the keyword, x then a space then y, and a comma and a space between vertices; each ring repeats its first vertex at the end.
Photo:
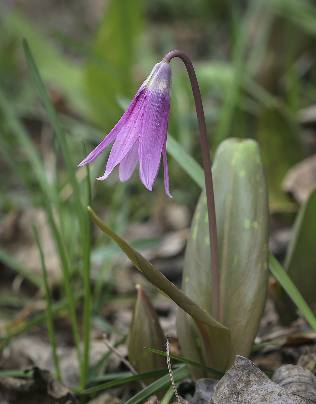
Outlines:
POLYGON ((117 236, 107 225, 105 225, 94 211, 88 206, 91 219, 100 230, 110 236, 117 245, 123 250, 132 263, 139 269, 149 282, 170 297, 179 307, 186 311, 190 316, 197 319, 207 326, 219 328, 223 335, 229 336, 229 330, 222 324, 214 320, 209 314, 201 309, 196 303, 181 292, 170 280, 165 278, 149 261, 147 261, 139 252, 126 243, 121 237, 117 236))

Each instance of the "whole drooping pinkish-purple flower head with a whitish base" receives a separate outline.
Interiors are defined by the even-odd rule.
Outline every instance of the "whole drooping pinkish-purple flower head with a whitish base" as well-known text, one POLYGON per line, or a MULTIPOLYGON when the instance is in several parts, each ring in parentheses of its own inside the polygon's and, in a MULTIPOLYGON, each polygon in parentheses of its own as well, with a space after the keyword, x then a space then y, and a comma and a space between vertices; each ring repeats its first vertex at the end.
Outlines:
POLYGON ((109 135, 78 166, 94 161, 115 140, 105 173, 106 179, 119 164, 119 179, 127 181, 139 160, 139 176, 150 191, 163 157, 165 191, 170 198, 166 144, 171 97, 171 67, 157 63, 133 101, 109 135))

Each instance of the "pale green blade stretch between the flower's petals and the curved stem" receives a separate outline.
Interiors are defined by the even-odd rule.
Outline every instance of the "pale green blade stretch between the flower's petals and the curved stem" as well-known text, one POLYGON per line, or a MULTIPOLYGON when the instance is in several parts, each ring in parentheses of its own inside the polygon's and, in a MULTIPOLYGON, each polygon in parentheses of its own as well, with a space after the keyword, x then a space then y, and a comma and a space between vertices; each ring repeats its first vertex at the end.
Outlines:
POLYGON ((167 152, 197 185, 202 189, 205 187, 203 168, 169 133, 167 135, 167 152))

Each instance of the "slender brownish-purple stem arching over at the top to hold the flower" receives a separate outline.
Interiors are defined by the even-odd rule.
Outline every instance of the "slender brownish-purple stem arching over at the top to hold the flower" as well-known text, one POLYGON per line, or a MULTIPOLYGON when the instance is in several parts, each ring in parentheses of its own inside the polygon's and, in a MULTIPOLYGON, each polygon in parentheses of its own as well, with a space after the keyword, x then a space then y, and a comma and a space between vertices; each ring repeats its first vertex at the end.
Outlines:
POLYGON ((213 193, 213 179, 211 170, 211 159, 209 157, 209 142, 207 139, 206 123, 201 99, 197 76, 188 56, 180 50, 172 50, 162 59, 162 63, 170 63, 171 59, 179 57, 185 64, 190 78, 195 109, 197 111, 197 120, 199 123, 199 132, 201 139, 201 149, 203 157, 203 168, 205 175, 205 189, 207 198, 207 212, 209 217, 209 240, 211 248, 211 275, 212 275, 212 317, 219 321, 220 317, 220 276, 218 260, 218 241, 216 230, 215 202, 213 193))

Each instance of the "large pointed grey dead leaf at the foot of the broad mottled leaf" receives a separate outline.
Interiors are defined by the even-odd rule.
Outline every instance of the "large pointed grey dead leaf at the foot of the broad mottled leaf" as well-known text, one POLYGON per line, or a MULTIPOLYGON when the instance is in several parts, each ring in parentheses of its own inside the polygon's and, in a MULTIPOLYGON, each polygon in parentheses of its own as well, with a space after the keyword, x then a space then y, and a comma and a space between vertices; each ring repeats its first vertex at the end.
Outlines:
MULTIPOLYGON (((236 356, 214 389, 211 404, 301 404, 301 398, 274 383, 251 360, 236 356)), ((308 401, 304 401, 307 403, 308 401)), ((308 402, 311 404, 311 402, 308 402)))

